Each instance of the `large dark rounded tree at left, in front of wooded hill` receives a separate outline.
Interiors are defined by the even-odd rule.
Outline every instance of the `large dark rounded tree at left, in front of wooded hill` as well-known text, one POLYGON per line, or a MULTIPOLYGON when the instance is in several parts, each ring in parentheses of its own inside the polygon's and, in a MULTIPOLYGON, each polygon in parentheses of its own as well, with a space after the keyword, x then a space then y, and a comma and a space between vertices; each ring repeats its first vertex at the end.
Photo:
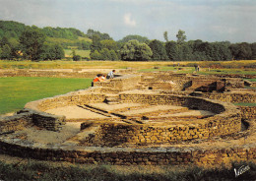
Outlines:
POLYGON ((31 60, 39 59, 44 40, 45 34, 42 31, 34 29, 25 30, 20 36, 22 52, 25 58, 31 60))

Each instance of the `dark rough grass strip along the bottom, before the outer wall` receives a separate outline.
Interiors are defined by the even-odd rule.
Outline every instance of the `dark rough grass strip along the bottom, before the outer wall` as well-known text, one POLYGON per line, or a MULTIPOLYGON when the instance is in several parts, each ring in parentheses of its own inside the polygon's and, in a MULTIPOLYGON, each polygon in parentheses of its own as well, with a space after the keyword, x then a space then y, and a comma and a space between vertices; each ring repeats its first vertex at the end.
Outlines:
POLYGON ((194 181, 194 180, 253 180, 256 164, 235 162, 230 168, 205 169, 198 166, 113 166, 68 165, 53 166, 47 162, 29 161, 27 164, 0 162, 1 180, 94 180, 94 181, 194 181), (235 177, 234 168, 250 169, 235 177))

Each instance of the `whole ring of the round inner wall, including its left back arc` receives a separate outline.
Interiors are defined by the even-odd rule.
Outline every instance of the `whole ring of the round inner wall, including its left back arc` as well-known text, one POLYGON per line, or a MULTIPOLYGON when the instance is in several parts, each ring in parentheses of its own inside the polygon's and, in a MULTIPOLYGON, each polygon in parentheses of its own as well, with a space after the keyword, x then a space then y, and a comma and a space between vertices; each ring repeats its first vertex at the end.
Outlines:
MULTIPOLYGON (((51 98, 30 102, 26 107, 33 110, 45 111, 47 109, 102 102, 105 95, 100 93, 67 93, 51 98)), ((169 104, 187 106, 191 109, 208 110, 218 115, 201 119, 199 123, 182 125, 167 124, 164 126, 154 124, 101 124, 92 144, 109 146, 112 143, 132 144, 165 144, 177 143, 195 139, 208 139, 215 136, 228 135, 240 131, 241 122, 239 110, 234 105, 218 101, 202 99, 192 96, 152 94, 152 93, 120 93, 120 102, 133 102, 143 104, 169 104)), ((171 121, 171 120, 169 120, 171 121)))

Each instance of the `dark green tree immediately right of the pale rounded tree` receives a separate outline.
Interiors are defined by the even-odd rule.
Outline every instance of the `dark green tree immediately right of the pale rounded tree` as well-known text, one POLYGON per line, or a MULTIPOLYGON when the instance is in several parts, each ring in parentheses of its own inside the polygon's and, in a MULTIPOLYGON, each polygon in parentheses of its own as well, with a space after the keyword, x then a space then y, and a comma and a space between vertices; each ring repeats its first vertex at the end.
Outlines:
POLYGON ((149 46, 151 47, 151 50, 153 52, 152 60, 167 60, 167 54, 166 50, 164 48, 164 45, 160 40, 153 40, 150 42, 149 46))

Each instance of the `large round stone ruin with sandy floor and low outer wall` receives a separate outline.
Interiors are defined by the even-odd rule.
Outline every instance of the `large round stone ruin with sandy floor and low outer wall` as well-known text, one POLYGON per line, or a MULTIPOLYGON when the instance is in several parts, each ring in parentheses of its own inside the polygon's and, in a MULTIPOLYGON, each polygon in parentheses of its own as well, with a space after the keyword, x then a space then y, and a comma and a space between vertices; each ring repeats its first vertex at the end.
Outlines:
POLYGON ((127 165, 255 160, 254 122, 241 132, 236 106, 123 86, 129 80, 139 83, 138 79, 126 76, 27 103, 24 110, 0 121, 0 151, 37 159, 127 165), (109 88, 116 93, 104 92, 109 88))

